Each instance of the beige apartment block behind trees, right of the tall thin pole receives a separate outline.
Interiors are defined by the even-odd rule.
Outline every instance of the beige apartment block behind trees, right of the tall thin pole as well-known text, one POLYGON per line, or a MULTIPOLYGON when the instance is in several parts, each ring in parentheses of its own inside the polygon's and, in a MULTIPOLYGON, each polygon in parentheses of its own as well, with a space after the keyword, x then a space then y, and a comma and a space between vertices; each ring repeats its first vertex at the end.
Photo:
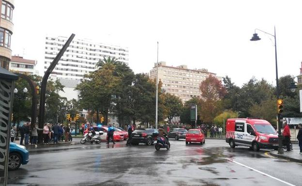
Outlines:
MULTIPOLYGON (((156 78, 156 65, 157 63, 150 71, 150 78, 156 78)), ((210 75, 216 76, 207 69, 192 70, 188 69, 186 65, 173 67, 166 66, 166 62, 163 61, 158 63, 158 80, 162 81, 162 88, 167 93, 178 96, 183 102, 192 97, 199 97, 201 94, 199 85, 210 75)))

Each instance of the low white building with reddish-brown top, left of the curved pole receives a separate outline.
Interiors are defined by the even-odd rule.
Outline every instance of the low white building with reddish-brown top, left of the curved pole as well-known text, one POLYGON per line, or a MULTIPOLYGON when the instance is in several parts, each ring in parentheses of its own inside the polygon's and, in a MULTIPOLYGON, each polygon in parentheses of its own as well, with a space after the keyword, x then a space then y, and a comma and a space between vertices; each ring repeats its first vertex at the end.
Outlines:
POLYGON ((9 70, 12 72, 25 73, 28 75, 39 75, 36 71, 36 60, 24 59, 20 56, 12 56, 12 60, 9 63, 9 70))

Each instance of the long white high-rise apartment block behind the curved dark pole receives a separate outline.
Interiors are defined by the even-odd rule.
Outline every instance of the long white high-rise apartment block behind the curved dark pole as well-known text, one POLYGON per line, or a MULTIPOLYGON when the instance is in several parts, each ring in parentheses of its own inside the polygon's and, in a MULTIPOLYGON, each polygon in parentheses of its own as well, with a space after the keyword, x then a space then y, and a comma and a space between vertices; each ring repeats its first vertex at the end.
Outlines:
MULTIPOLYGON (((44 72, 68 38, 46 36, 45 39, 44 72)), ((115 57, 128 64, 128 53, 127 47, 74 39, 51 73, 51 77, 79 80, 84 74, 95 71, 95 64, 104 57, 115 57)))

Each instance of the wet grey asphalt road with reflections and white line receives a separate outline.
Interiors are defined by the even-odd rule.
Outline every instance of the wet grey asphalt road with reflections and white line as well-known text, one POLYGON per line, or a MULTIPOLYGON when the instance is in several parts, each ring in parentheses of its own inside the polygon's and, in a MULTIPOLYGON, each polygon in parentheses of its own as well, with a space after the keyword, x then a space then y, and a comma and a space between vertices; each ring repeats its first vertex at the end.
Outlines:
POLYGON ((171 149, 72 144, 30 150, 30 162, 9 172, 10 186, 287 186, 302 185, 302 164, 267 151, 230 149, 224 140, 171 149), (57 151, 54 151, 57 149, 57 151))

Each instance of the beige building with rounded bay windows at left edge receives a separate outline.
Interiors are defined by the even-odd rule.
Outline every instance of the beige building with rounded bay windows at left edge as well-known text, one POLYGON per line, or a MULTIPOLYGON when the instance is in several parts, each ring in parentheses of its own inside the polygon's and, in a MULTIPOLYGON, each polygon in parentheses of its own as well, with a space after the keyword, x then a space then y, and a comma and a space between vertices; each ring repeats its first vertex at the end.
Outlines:
POLYGON ((14 0, 0 0, 0 67, 9 69, 9 62, 12 59, 11 35, 14 24, 13 10, 14 0))

